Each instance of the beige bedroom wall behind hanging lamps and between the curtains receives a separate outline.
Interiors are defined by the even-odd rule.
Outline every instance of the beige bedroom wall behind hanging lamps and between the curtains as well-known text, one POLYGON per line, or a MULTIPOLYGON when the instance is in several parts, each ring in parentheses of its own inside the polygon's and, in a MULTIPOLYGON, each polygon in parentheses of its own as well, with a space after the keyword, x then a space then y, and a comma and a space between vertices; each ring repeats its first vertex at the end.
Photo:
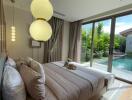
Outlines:
MULTIPOLYGON (((4 5, 5 17, 7 24, 7 51, 9 56, 13 58, 32 57, 35 60, 43 61, 44 44, 41 43, 41 48, 31 48, 29 45, 30 35, 29 26, 32 23, 32 16, 29 11, 15 8, 15 26, 16 26, 16 41, 11 41, 11 26, 12 26, 12 7, 4 5)), ((62 59, 65 60, 68 55, 69 46, 69 23, 65 22, 63 31, 63 52, 62 59)))

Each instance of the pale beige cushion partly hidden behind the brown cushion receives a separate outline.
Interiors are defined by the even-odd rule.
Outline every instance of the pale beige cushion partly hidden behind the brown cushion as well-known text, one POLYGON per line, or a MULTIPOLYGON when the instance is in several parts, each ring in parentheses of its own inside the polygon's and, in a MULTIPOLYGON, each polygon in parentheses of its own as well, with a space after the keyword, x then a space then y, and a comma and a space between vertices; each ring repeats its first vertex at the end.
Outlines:
POLYGON ((30 58, 30 67, 42 76, 45 84, 45 73, 44 73, 43 65, 33 59, 31 60, 30 58))

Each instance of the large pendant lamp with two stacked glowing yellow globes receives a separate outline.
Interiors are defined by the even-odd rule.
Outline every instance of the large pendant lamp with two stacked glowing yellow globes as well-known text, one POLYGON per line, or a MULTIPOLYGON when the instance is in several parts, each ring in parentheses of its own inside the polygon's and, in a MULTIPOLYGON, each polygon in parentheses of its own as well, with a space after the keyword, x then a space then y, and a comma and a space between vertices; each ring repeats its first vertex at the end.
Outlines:
POLYGON ((30 35, 37 41, 48 41, 52 35, 52 29, 48 20, 53 16, 53 7, 49 0, 32 0, 32 15, 36 18, 30 26, 30 35))

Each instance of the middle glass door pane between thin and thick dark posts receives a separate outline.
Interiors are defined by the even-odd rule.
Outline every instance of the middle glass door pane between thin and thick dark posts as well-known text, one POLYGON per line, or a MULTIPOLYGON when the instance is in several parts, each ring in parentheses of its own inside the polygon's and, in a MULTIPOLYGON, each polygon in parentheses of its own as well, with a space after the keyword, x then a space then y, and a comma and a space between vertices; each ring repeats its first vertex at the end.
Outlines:
POLYGON ((107 71, 110 46, 111 19, 95 23, 93 39, 93 67, 107 71))

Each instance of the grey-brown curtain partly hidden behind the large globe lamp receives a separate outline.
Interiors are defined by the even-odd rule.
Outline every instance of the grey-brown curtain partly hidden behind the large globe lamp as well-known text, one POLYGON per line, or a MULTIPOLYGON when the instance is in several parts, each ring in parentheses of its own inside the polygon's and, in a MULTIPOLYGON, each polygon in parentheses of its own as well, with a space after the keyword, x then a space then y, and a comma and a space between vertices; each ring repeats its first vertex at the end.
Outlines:
POLYGON ((44 43, 44 63, 60 61, 62 55, 62 31, 64 20, 52 17, 49 21, 52 27, 52 37, 44 43))

